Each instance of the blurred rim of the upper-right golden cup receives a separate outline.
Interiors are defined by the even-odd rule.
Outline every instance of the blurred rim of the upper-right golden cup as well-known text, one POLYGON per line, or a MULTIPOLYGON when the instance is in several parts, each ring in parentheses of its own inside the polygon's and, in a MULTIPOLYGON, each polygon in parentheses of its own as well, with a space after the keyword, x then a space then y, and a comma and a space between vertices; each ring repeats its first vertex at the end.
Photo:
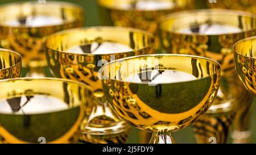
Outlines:
POLYGON ((163 15, 158 19, 158 25, 159 25, 159 30, 161 31, 166 31, 168 33, 175 33, 179 35, 186 35, 186 36, 221 36, 221 35, 236 35, 240 33, 246 33, 250 31, 255 31, 255 28, 250 28, 249 30, 241 30, 241 32, 229 32, 229 33, 216 33, 216 34, 204 34, 204 33, 185 33, 185 32, 179 32, 176 30, 166 30, 165 28, 162 28, 162 24, 166 22, 167 20, 170 19, 175 19, 175 18, 182 18, 183 16, 193 16, 195 14, 210 14, 210 15, 240 15, 240 16, 246 16, 249 18, 254 18, 256 20, 256 14, 253 14, 251 12, 247 11, 241 11, 241 10, 230 10, 230 9, 196 9, 196 10, 185 10, 185 11, 179 11, 179 12, 174 12, 171 14, 163 15))

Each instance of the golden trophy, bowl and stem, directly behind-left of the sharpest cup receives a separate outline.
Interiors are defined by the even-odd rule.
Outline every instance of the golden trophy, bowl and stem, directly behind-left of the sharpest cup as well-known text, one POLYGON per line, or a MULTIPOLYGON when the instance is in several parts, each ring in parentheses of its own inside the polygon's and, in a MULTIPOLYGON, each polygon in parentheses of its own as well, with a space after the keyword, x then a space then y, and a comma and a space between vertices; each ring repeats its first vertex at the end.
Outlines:
POLYGON ((57 32, 46 39, 48 66, 55 77, 84 82, 92 87, 94 107, 81 141, 125 143, 130 126, 106 102, 98 78, 109 61, 151 54, 154 37, 134 28, 88 27, 57 32))

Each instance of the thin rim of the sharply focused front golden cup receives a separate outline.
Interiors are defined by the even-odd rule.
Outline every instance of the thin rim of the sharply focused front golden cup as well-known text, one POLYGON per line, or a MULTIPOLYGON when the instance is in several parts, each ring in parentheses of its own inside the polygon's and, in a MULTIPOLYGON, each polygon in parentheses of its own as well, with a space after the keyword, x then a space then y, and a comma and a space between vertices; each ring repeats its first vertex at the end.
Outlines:
MULTIPOLYGON (((214 74, 217 74, 221 73, 221 65, 220 63, 218 63, 216 60, 213 60, 213 59, 210 59, 210 58, 207 58, 207 57, 201 57, 201 56, 193 56, 193 55, 180 55, 180 54, 153 54, 153 55, 139 55, 139 56, 131 56, 131 57, 125 57, 125 58, 119 58, 118 60, 114 60, 114 61, 110 61, 106 64, 104 64, 99 72, 101 73, 101 80, 104 80, 105 78, 109 78, 109 77, 105 77, 102 75, 103 73, 103 70, 104 68, 107 68, 109 65, 111 64, 114 64, 115 62, 122 62, 122 61, 126 61, 126 60, 133 60, 134 58, 139 58, 139 57, 158 57, 158 56, 178 56, 178 57, 191 57, 191 58, 200 58, 200 59, 204 59, 204 60, 208 60, 208 61, 212 61, 214 64, 217 64, 217 71, 216 73, 213 73, 212 75, 208 75, 208 76, 205 76, 205 77, 201 77, 201 78, 197 78, 197 79, 193 79, 193 80, 188 80, 188 81, 181 81, 181 82, 191 82, 191 81, 197 81, 197 80, 200 80, 200 79, 204 79, 204 78, 208 78, 210 76, 213 76, 214 74)), ((125 82, 125 81, 122 81, 122 80, 119 80, 119 79, 113 79, 115 81, 120 81, 120 82, 125 82)), ((181 83, 181 82, 171 82, 171 83, 181 83)), ((148 83, 141 83, 141 82, 129 82, 129 83, 139 83, 139 84, 146 84, 148 85, 148 83)), ((160 82, 159 84, 168 84, 170 82, 160 82)))

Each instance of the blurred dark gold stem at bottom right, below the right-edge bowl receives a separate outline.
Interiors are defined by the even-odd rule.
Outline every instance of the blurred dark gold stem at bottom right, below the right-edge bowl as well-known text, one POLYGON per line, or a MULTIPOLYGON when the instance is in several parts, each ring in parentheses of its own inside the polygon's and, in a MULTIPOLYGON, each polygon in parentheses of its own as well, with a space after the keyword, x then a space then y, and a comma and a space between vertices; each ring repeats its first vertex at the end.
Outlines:
POLYGON ((251 131, 250 131, 250 116, 251 116, 251 103, 253 96, 247 93, 243 99, 240 100, 240 108, 236 112, 236 118, 233 124, 232 139, 233 143, 245 144, 249 143, 251 131))

